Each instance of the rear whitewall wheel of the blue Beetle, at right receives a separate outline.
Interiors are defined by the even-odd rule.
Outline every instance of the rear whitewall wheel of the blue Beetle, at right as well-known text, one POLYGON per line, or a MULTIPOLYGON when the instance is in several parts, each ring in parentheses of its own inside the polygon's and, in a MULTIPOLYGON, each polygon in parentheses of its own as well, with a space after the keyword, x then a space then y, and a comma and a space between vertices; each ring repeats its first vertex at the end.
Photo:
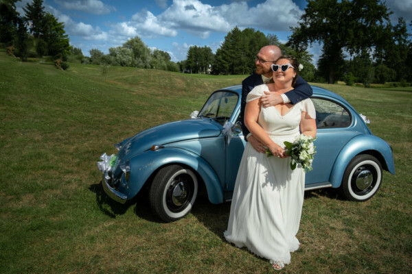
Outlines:
POLYGON ((382 166, 372 155, 357 155, 343 174, 341 193, 352 201, 366 201, 375 195, 382 182, 382 166))

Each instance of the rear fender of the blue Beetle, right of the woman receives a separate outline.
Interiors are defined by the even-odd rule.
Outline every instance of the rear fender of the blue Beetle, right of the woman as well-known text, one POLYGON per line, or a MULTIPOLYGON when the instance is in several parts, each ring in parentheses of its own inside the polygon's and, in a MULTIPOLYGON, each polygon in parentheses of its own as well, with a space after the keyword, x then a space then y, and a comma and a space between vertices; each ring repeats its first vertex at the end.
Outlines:
POLYGON ((343 174, 349 162, 358 154, 367 153, 371 155, 380 155, 378 160, 382 168, 395 174, 395 164, 393 162, 393 153, 391 146, 374 135, 358 135, 352 138, 342 149, 339 156, 336 158, 332 173, 330 173, 330 183, 332 187, 338 188, 341 186, 343 174), (384 162, 382 162, 384 161, 384 162))

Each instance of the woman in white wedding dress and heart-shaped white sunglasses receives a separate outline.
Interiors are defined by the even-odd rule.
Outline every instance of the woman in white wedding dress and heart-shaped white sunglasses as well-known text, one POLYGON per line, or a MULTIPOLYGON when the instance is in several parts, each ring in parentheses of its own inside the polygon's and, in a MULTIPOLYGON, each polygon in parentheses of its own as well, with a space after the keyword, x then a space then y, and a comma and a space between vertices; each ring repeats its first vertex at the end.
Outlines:
POLYGON ((272 64, 274 83, 253 88, 247 97, 244 123, 277 157, 268 158, 247 142, 224 233, 227 241, 270 260, 276 270, 289 264, 290 252, 299 247, 296 234, 304 203, 305 173, 290 169, 284 141, 293 142, 300 133, 314 138, 316 114, 310 99, 269 108, 262 108, 259 99, 265 90, 281 95, 293 89, 298 67, 293 56, 281 56, 272 64))

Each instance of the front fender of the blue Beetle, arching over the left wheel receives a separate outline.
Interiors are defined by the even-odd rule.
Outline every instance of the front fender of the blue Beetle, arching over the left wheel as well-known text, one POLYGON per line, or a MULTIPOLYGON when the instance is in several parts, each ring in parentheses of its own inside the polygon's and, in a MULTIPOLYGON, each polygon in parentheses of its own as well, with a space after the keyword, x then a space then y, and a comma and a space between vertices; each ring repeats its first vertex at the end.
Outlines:
POLYGON ((130 182, 128 197, 134 197, 144 186, 147 179, 161 166, 184 164, 196 171, 205 182, 207 195, 211 203, 223 202, 223 190, 218 175, 211 166, 196 153, 175 147, 165 147, 156 151, 145 151, 130 159, 130 182))

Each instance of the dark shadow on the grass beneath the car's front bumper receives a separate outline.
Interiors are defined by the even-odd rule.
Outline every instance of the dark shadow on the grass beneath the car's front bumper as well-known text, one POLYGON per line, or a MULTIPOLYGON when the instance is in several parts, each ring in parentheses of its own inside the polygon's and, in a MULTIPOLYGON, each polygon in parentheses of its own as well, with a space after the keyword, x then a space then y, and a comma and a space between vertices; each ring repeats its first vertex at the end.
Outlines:
POLYGON ((125 214, 130 207, 134 206, 135 208, 133 211, 139 218, 145 219, 146 221, 161 223, 155 216, 153 216, 148 203, 148 196, 145 191, 139 192, 136 197, 122 204, 113 201, 113 199, 106 195, 106 192, 103 190, 102 182, 100 182, 100 184, 92 184, 89 187, 89 190, 95 193, 96 202, 98 203, 100 210, 113 219, 118 215, 125 214))

